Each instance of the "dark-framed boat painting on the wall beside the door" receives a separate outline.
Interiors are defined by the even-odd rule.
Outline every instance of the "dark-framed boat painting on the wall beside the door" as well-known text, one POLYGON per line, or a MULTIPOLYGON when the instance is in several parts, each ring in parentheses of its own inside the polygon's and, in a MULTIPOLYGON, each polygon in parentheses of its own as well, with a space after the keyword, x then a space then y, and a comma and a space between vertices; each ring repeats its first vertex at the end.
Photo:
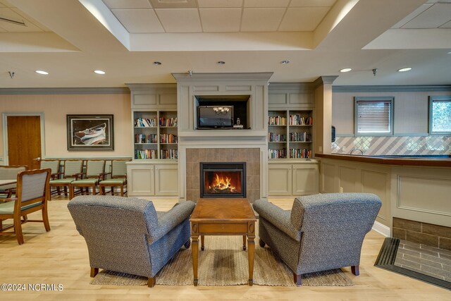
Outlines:
POLYGON ((69 151, 114 150, 113 115, 67 115, 69 151))

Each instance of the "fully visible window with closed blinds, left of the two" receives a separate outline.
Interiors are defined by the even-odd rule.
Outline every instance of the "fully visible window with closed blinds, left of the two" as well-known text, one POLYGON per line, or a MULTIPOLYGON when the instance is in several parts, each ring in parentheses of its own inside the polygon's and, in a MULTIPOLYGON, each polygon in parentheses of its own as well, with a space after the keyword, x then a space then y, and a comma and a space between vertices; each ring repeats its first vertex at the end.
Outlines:
POLYGON ((393 135, 393 97, 355 98, 356 135, 393 135))

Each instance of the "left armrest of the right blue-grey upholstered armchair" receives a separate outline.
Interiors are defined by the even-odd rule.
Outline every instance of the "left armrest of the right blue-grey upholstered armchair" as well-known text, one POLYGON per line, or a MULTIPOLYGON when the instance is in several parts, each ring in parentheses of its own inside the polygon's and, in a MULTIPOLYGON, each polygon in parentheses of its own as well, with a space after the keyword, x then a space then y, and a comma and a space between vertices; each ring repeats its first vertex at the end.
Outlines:
POLYGON ((283 231, 283 233, 289 235, 294 240, 301 240, 301 232, 297 231, 295 226, 290 221, 291 210, 283 210, 264 199, 257 199, 253 204, 254 210, 266 219, 266 221, 272 223, 276 228, 283 231))

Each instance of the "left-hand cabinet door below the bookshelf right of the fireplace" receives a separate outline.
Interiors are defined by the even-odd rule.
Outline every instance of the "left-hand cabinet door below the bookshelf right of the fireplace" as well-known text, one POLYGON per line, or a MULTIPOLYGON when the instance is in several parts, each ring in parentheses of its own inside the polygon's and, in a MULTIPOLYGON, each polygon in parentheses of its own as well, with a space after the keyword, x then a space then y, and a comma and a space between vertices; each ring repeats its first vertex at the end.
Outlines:
POLYGON ((291 164, 268 164, 268 195, 291 195, 291 164))

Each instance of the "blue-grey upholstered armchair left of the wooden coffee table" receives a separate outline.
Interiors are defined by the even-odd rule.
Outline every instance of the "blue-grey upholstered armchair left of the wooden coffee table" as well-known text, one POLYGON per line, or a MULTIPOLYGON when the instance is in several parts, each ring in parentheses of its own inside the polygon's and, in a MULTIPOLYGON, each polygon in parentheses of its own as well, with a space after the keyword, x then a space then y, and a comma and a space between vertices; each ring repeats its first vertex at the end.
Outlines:
POLYGON ((78 232, 85 238, 91 276, 100 269, 148 277, 155 275, 180 247, 190 247, 190 214, 187 201, 167 212, 136 197, 81 195, 68 203, 78 232))

